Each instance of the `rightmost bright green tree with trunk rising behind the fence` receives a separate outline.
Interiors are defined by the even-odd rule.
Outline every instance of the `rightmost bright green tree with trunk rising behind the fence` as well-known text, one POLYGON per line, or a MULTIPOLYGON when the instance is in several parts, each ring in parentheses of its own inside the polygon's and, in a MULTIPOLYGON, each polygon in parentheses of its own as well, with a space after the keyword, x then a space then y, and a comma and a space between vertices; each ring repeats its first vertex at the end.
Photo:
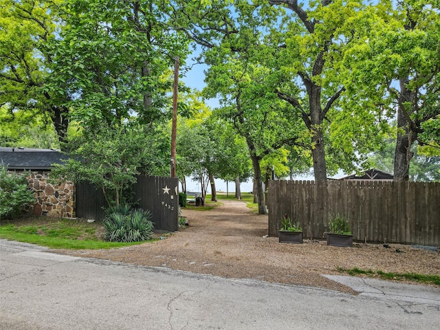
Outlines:
POLYGON ((408 181, 412 146, 438 146, 440 8, 438 1, 393 4, 380 1, 353 22, 362 38, 344 64, 351 95, 397 116, 394 179, 408 181))

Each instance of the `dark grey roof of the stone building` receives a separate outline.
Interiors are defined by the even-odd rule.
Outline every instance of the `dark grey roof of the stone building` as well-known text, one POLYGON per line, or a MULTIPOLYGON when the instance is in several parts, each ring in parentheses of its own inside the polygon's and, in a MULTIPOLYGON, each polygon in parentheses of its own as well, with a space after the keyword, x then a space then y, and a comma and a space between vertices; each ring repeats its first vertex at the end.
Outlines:
POLYGON ((8 170, 50 170, 52 164, 63 164, 67 158, 54 149, 0 147, 0 164, 8 170))

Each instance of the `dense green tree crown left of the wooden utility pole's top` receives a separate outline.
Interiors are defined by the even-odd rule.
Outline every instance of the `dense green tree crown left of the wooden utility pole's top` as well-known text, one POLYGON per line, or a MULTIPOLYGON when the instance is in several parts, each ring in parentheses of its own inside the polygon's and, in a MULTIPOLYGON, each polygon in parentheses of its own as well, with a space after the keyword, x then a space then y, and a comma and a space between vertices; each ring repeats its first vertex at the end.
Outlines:
POLYGON ((71 96, 71 118, 93 128, 133 115, 153 124, 169 109, 175 56, 188 53, 170 28, 167 1, 74 0, 61 6, 65 28, 50 45, 53 91, 71 96))

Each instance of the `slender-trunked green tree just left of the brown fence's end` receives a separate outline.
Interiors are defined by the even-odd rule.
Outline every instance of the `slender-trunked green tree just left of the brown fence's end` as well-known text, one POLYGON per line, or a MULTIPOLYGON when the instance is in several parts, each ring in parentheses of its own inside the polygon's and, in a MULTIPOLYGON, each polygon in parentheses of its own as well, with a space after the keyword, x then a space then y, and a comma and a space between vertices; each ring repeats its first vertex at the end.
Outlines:
POLYGON ((246 54, 241 58, 232 52, 229 61, 212 65, 206 93, 222 97, 225 105, 219 115, 233 124, 248 145, 256 182, 254 196, 259 213, 265 214, 261 160, 284 145, 307 147, 309 135, 295 111, 273 93, 271 70, 244 61, 246 54))

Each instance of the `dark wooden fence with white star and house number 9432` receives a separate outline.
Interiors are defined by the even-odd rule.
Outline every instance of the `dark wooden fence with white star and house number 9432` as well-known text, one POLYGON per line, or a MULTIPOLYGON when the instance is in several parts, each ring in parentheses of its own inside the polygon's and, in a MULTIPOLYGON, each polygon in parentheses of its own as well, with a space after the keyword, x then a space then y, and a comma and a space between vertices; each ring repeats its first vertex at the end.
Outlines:
MULTIPOLYGON (((137 177, 131 193, 138 207, 153 213, 154 227, 157 230, 175 231, 178 229, 177 192, 179 181, 175 177, 137 177)), ((104 219, 107 203, 101 190, 87 182, 76 184, 76 217, 86 219, 104 219)))

